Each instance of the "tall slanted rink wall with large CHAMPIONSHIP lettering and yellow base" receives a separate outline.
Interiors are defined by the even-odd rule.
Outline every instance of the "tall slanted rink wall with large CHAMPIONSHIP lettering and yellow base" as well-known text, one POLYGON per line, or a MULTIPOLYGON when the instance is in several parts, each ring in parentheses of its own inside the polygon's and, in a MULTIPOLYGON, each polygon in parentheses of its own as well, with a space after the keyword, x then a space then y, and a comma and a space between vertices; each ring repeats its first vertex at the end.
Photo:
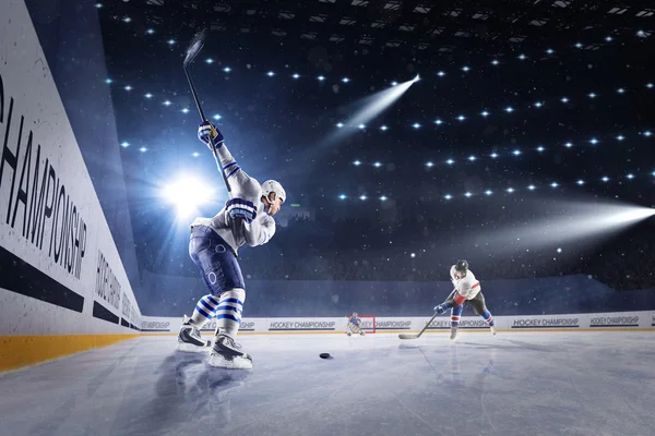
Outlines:
POLYGON ((0 371, 139 335, 141 311, 75 133, 25 2, 3 0, 0 371))

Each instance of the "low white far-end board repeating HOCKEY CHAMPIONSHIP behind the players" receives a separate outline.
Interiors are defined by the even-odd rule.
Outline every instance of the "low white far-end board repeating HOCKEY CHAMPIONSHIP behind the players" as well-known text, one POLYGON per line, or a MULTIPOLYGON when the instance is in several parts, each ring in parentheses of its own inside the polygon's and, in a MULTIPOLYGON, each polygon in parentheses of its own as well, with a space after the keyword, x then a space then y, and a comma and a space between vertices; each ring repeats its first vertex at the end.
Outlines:
MULTIPOLYGON (((378 332, 420 331, 429 317, 376 317, 378 332)), ((655 312, 617 312, 599 314, 531 315, 495 317, 499 330, 546 331, 546 330, 590 330, 590 329, 652 329, 655 328, 655 312)), ((141 330, 144 334, 177 332, 181 318, 143 316, 141 330)), ((338 318, 243 318, 245 327, 239 332, 254 334, 343 334, 347 317, 338 318)), ((215 320, 203 331, 213 331, 215 320)), ((486 330, 487 324, 479 316, 464 316, 460 326, 464 330, 486 330)), ((427 331, 450 329, 450 316, 438 316, 427 331)))

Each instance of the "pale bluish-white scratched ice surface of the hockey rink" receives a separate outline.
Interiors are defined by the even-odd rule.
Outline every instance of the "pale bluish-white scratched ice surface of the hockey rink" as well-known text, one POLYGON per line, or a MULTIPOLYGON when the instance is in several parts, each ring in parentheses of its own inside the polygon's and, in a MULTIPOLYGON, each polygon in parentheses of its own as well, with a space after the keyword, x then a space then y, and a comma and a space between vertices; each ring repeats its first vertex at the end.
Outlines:
POLYGON ((655 332, 142 337, 0 376, 2 435, 655 435, 655 332), (329 352, 333 359, 322 360, 329 352))

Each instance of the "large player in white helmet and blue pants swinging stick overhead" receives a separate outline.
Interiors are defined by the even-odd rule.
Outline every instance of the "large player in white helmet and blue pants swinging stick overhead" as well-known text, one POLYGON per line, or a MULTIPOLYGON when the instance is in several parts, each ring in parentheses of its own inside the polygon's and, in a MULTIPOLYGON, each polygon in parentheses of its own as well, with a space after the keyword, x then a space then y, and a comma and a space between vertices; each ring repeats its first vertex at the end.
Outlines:
POLYGON ((210 293, 198 302, 193 315, 184 315, 178 336, 178 351, 202 352, 212 348, 210 366, 225 368, 252 368, 252 358, 235 341, 246 286, 237 261, 240 246, 263 245, 275 234, 273 216, 286 199, 282 185, 267 180, 260 183, 249 177, 231 156, 223 134, 210 122, 198 130, 198 137, 212 147, 231 187, 231 198, 213 218, 196 218, 191 223, 189 255, 201 270, 210 293), (200 329, 216 318, 214 344, 202 339, 200 329))

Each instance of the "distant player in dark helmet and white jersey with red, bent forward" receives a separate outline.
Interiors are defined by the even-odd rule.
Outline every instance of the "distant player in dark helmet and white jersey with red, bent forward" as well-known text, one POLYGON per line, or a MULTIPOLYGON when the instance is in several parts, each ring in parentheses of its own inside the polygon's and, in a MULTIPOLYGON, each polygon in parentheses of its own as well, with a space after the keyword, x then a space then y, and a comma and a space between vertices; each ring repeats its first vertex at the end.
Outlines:
POLYGON ((451 267, 450 275, 455 289, 448 295, 448 299, 443 303, 434 307, 434 312, 443 314, 449 308, 451 310, 451 339, 455 339, 457 336, 460 316, 464 310, 465 302, 468 302, 474 312, 487 322, 491 334, 496 336, 497 330, 493 316, 491 316, 485 304, 485 295, 483 294, 480 282, 475 278, 473 271, 468 269, 468 263, 466 261, 457 261, 451 267))

